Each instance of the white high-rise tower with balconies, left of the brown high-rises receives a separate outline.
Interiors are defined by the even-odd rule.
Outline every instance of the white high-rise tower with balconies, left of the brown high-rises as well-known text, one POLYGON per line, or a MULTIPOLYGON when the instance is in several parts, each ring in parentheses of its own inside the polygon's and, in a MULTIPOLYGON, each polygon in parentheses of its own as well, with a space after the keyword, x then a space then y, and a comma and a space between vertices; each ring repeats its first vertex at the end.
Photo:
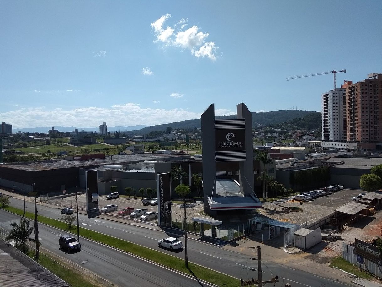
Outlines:
POLYGON ((346 89, 336 88, 322 94, 322 140, 341 142, 343 133, 343 103, 346 89))

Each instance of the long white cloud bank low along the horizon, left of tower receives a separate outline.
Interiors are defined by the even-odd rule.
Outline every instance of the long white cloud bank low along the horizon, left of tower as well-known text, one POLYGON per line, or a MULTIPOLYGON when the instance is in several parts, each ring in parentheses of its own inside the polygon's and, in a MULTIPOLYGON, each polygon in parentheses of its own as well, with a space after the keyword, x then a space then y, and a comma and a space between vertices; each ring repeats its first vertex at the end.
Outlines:
POLYGON ((125 123, 157 125, 198 119, 200 115, 186 109, 142 108, 139 104, 127 103, 108 108, 87 107, 71 110, 47 110, 45 107, 16 108, 14 111, 0 113, 0 118, 17 129, 39 126, 98 127, 102 122, 107 122, 108 126, 121 126, 125 123))

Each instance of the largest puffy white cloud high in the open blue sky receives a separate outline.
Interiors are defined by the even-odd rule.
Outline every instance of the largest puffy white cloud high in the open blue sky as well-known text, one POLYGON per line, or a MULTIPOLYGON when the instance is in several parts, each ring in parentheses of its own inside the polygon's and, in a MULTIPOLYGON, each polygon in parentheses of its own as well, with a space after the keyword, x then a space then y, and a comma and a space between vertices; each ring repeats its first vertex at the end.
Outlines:
POLYGON ((171 14, 167 13, 151 23, 151 27, 156 36, 154 42, 162 42, 165 46, 189 49, 191 54, 195 55, 197 58, 207 57, 212 61, 217 59, 216 52, 219 47, 215 45, 215 42, 206 42, 209 33, 199 31, 201 28, 195 25, 183 31, 187 26, 187 18, 181 18, 176 22, 174 28, 167 26, 166 29, 163 29, 163 24, 170 17, 171 14), (176 33, 174 33, 175 31, 176 33))

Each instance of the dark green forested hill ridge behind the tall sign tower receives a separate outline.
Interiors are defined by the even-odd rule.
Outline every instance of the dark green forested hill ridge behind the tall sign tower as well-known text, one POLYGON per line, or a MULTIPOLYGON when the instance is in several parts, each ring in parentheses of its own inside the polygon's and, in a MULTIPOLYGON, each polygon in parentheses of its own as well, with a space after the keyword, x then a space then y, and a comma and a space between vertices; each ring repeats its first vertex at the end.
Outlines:
MULTIPOLYGON (((271 111, 267 113, 252 113, 252 125, 256 127, 258 124, 269 125, 269 124, 280 124, 283 122, 289 122, 293 119, 301 119, 309 114, 313 114, 317 118, 317 125, 321 124, 321 113, 314 111, 302 111, 302 110, 280 110, 271 111)), ((215 119, 235 119, 236 115, 230 116, 217 116, 215 119)), ((149 132, 166 130, 167 127, 172 129, 194 129, 201 127, 200 119, 192 119, 181 122, 172 122, 170 124, 162 124, 157 126, 144 127, 140 130, 134 130, 137 135, 148 134, 149 132)), ((127 127, 126 127, 127 130, 127 127)))

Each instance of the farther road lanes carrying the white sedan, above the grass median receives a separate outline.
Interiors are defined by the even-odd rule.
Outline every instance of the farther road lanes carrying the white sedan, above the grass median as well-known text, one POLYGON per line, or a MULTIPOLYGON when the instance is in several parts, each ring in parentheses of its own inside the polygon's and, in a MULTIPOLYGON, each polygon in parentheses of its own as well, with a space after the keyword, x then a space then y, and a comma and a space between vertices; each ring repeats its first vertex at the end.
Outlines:
MULTIPOLYGON (((23 209, 23 201, 11 198, 11 206, 23 209)), ((39 215, 44 215, 53 219, 60 219, 61 217, 60 209, 40 204, 37 206, 37 209, 39 215)), ((26 210, 34 212, 34 204, 26 201, 26 210)), ((184 249, 170 251, 167 249, 160 249, 157 245, 158 240, 169 236, 180 238, 184 245, 184 238, 181 238, 180 235, 166 234, 160 230, 142 228, 106 220, 104 218, 88 218, 87 215, 83 214, 79 214, 79 225, 90 230, 105 233, 148 248, 162 251, 163 253, 171 254, 182 259, 185 258, 184 249)), ((254 253, 254 256, 252 257, 257 256, 254 253)), ((248 270, 248 268, 257 269, 257 261, 249 260, 249 257, 244 254, 206 244, 199 240, 188 240, 188 260, 239 279, 243 278, 244 280, 248 280, 248 278, 250 279, 252 277, 257 278, 257 272, 248 270)), ((269 280, 273 277, 273 274, 278 275, 280 282, 276 283, 275 286, 284 286, 285 283, 288 282, 293 284, 293 286, 306 287, 316 287, 321 285, 330 285, 331 287, 356 286, 342 282, 333 282, 332 279, 311 274, 303 270, 293 269, 280 263, 275 264, 272 261, 266 260, 262 260, 262 262, 272 270, 271 271, 265 267, 262 268, 263 280, 269 280)), ((98 274, 97 271, 95 273, 98 274)))

